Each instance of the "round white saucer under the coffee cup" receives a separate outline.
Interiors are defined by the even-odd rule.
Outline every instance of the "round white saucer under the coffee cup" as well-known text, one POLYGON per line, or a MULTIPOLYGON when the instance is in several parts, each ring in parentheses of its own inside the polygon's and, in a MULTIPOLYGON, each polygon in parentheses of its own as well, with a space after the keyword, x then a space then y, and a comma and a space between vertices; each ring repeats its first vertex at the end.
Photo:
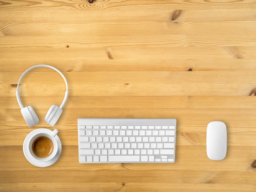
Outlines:
POLYGON ((29 140, 30 138, 32 138, 35 134, 41 133, 43 129, 43 132, 47 132, 49 134, 52 133, 52 131, 50 129, 45 129, 45 128, 40 128, 40 129, 35 129, 34 131, 31 131, 25 138, 24 143, 23 143, 23 153, 27 159, 27 161, 29 161, 29 163, 31 163, 32 165, 35 165, 37 167, 48 167, 52 164, 54 164, 58 158, 61 155, 61 140, 58 137, 58 135, 55 136, 56 141, 58 143, 58 152, 57 154, 54 156, 54 158, 50 161, 46 161, 46 162, 40 162, 40 161, 36 161, 36 159, 33 158, 33 156, 29 153, 28 151, 28 145, 29 145, 29 140))

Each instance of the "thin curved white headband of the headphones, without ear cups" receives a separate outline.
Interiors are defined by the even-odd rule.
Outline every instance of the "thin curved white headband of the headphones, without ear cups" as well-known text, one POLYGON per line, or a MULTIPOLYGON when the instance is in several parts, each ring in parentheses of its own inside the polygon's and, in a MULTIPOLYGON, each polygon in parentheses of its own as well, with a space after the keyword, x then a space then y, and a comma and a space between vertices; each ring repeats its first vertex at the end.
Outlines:
POLYGON ((50 69, 53 69, 55 71, 57 71, 61 76, 62 78, 64 79, 65 81, 65 84, 66 84, 66 92, 65 92, 65 96, 64 96, 64 99, 63 99, 63 102, 61 103, 61 106, 59 108, 63 108, 66 101, 67 101, 67 96, 68 96, 68 87, 67 87, 67 80, 65 78, 65 76, 61 73, 61 71, 59 71, 58 69, 50 66, 50 65, 35 65, 33 67, 30 67, 29 69, 27 69, 21 76, 20 76, 20 79, 18 81, 18 85, 17 85, 17 91, 16 91, 16 97, 17 97, 17 100, 18 100, 18 104, 20 105, 20 108, 23 109, 24 106, 22 105, 22 102, 20 100, 20 92, 19 92, 19 86, 20 86, 20 81, 22 80, 22 78, 25 76, 25 74, 27 74, 28 71, 30 71, 31 69, 35 69, 35 68, 38 68, 38 67, 47 67, 47 68, 50 68, 50 69))

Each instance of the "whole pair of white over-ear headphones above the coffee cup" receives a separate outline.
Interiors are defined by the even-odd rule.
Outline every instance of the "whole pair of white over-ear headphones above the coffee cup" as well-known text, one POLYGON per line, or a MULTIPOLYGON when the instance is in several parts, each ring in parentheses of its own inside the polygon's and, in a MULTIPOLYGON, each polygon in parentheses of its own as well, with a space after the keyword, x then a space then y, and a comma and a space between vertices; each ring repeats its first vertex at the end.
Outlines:
MULTIPOLYGON (((39 123, 39 119, 36 116, 36 113, 34 111, 34 109, 31 106, 28 107, 24 107, 21 103, 20 100, 20 92, 19 92, 19 86, 20 86, 20 81, 23 78, 23 76, 25 76, 25 74, 30 71, 31 69, 34 68, 38 68, 38 67, 48 67, 50 69, 54 69, 55 71, 57 71, 64 79, 65 83, 66 83, 66 89, 67 89, 67 80, 65 79, 65 77, 63 76, 63 74, 61 73, 61 71, 59 71, 58 69, 49 66, 49 65, 35 65, 33 67, 30 67, 29 69, 27 69, 21 76, 20 76, 20 80, 18 81, 18 85, 17 85, 17 91, 16 91, 16 97, 18 100, 18 104, 20 105, 21 108, 21 114, 24 117, 27 125, 29 127, 36 125, 37 123, 39 123)), ((52 107, 50 107, 49 111, 47 112, 46 116, 45 116, 45 122, 48 123, 51 126, 54 126, 55 123, 58 121, 58 118, 61 116, 62 113, 62 108, 64 107, 66 101, 67 101, 67 95, 68 95, 68 90, 66 90, 65 92, 65 96, 64 96, 64 100, 61 103, 61 106, 58 107, 57 105, 52 105, 52 107)))

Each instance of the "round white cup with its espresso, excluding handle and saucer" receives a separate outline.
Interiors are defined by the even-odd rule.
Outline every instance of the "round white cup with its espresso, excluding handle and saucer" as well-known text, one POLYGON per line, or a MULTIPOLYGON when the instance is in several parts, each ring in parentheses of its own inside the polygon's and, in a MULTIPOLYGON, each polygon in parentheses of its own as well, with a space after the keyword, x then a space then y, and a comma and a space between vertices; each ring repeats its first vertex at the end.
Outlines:
POLYGON ((51 134, 38 133, 29 141, 29 152, 37 161, 50 161, 57 151, 58 143, 51 134))

